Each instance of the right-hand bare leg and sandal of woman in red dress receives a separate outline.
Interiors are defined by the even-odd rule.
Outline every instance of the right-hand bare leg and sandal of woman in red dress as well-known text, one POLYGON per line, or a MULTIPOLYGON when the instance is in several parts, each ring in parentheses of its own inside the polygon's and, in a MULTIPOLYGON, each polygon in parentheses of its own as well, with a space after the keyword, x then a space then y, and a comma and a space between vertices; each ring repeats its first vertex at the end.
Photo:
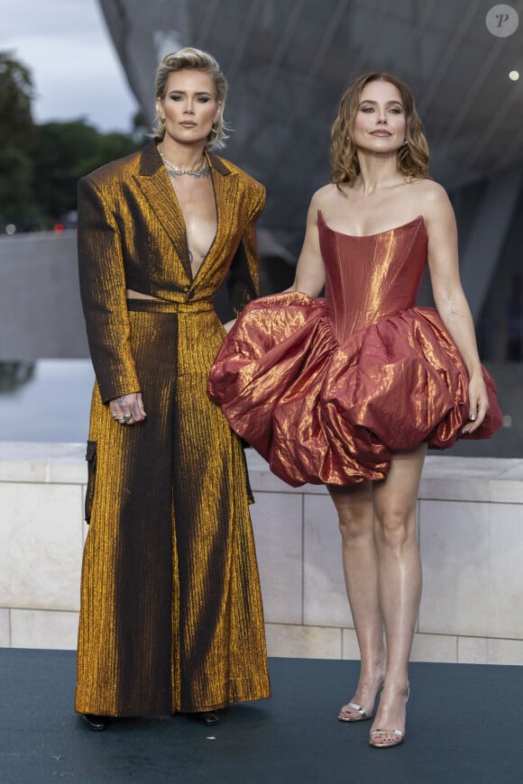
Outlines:
MULTIPOLYGON (((419 600, 421 561, 416 536, 416 505, 427 447, 396 454, 387 479, 373 489, 378 552, 378 593, 385 624, 387 669, 372 729, 405 731, 408 657, 419 600)), ((381 734, 374 743, 390 745, 398 736, 381 734)))

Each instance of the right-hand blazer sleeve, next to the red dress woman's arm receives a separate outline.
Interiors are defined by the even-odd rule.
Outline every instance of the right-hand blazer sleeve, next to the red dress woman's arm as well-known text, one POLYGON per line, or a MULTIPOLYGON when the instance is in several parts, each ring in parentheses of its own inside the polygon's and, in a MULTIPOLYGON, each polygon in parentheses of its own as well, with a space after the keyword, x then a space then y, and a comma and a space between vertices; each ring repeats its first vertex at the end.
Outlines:
POLYGON ((258 184, 255 193, 258 198, 254 199, 254 206, 249 214, 242 242, 240 242, 238 250, 234 254, 227 280, 229 303, 234 317, 243 311, 247 303, 260 294, 256 221, 265 206, 265 188, 258 184))

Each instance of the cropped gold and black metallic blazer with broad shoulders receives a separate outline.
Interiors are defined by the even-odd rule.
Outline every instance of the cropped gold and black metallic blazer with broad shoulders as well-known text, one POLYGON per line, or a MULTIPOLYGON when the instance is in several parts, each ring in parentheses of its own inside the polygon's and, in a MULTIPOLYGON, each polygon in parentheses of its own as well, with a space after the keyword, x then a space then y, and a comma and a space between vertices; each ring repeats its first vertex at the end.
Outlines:
POLYGON ((215 240, 195 278, 185 224, 151 141, 78 183, 78 265, 87 337, 102 400, 141 390, 125 289, 170 303, 213 301, 227 278, 234 315, 258 295, 255 223, 265 189, 206 153, 216 196, 215 240))

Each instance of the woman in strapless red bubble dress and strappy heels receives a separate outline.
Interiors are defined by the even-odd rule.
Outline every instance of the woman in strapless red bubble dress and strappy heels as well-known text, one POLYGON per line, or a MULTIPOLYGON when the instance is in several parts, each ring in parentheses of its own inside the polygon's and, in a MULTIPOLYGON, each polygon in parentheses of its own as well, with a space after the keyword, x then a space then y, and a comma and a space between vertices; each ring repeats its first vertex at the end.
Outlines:
POLYGON ((405 85, 386 74, 353 82, 331 165, 310 204, 294 284, 248 305, 208 390, 278 476, 329 489, 361 652, 338 718, 374 716, 369 742, 385 748, 405 736, 427 446, 487 438, 501 414, 460 282, 454 212, 428 177, 405 85), (415 306, 427 263, 436 309, 415 306))

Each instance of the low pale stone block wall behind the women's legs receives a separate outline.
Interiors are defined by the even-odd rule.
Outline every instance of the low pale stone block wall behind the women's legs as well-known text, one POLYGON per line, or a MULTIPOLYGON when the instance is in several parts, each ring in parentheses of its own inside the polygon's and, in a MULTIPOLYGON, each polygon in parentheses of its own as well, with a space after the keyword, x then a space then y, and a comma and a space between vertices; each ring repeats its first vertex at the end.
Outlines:
MULTIPOLYGON (((1 646, 76 646, 84 453, 0 442, 1 646)), ((248 464, 270 654, 357 658, 326 489, 287 487, 252 451, 248 464)), ((418 504, 413 660, 523 664, 523 460, 429 456, 418 504)))

